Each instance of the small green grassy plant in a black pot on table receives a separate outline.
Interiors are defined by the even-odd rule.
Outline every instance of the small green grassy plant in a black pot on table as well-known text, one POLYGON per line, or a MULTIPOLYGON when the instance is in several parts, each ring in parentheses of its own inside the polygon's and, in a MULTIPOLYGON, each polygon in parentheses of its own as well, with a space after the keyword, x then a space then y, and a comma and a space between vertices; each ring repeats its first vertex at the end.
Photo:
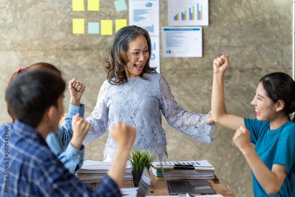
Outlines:
POLYGON ((142 171, 146 166, 148 169, 152 162, 155 160, 155 156, 150 153, 149 150, 140 151, 140 149, 132 149, 129 155, 129 162, 132 167, 132 178, 134 187, 138 186, 142 171))

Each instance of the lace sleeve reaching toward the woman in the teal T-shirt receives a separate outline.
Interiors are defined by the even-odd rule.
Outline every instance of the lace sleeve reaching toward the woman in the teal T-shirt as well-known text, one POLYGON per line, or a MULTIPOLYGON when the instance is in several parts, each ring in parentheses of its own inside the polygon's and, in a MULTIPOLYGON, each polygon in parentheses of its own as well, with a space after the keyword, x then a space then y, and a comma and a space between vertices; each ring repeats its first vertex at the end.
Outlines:
POLYGON ((174 100, 170 87, 163 76, 159 80, 160 109, 168 124, 176 130, 204 143, 211 143, 215 138, 212 135, 213 124, 207 124, 209 113, 189 113, 174 100))

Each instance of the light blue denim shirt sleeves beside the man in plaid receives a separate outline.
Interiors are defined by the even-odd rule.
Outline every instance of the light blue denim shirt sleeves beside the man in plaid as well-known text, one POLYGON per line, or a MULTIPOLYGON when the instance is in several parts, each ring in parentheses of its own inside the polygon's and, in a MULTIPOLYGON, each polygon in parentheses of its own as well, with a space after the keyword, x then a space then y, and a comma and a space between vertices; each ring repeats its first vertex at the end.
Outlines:
POLYGON ((51 151, 71 174, 80 169, 84 157, 84 146, 81 146, 81 150, 77 150, 70 143, 73 136, 72 117, 77 113, 84 117, 84 109, 85 105, 82 103, 80 103, 80 107, 70 103, 68 115, 65 117, 65 125, 58 126, 57 131, 49 133, 46 137, 46 142, 51 151))

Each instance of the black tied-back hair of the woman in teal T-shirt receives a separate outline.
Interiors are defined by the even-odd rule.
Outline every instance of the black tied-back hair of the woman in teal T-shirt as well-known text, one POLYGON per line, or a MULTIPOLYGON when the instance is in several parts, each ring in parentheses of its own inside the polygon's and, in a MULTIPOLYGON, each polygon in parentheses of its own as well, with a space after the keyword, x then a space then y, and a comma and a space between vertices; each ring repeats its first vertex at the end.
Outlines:
MULTIPOLYGON (((289 116, 295 111, 295 82, 291 76, 276 72, 262 77, 260 82, 273 102, 278 102, 278 100, 285 102, 284 115, 289 116)), ((295 121, 295 116, 292 121, 295 121)))

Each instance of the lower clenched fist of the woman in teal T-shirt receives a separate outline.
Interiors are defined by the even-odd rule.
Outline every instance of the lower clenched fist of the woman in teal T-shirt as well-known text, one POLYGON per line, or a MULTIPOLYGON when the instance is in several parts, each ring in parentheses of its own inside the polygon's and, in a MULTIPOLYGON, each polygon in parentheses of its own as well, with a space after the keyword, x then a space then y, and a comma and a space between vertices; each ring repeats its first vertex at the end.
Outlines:
POLYGON ((240 151, 243 154, 245 153, 246 149, 251 146, 250 132, 245 126, 240 126, 237 129, 232 140, 234 141, 235 145, 240 149, 240 151))

